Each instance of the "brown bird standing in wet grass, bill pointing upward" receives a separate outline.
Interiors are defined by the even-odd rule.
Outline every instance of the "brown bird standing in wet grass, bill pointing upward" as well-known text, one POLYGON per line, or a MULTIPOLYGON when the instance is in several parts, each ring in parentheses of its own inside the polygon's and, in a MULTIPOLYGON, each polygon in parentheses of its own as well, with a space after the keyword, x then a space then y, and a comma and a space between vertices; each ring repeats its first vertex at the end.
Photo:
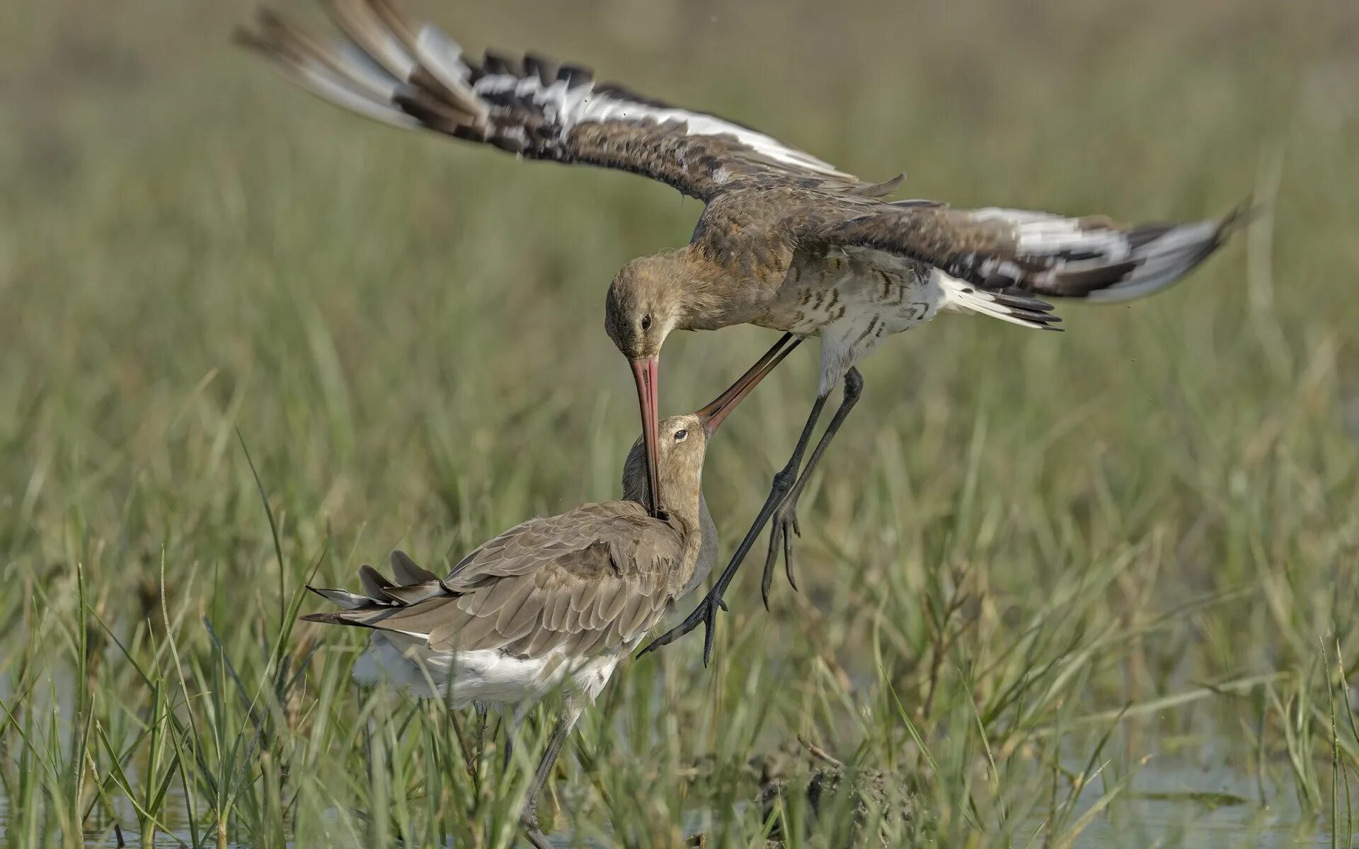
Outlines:
POLYGON ((659 422, 660 485, 651 516, 646 450, 639 437, 622 469, 622 500, 582 504, 516 524, 467 554, 439 580, 393 552, 395 581, 359 569, 363 594, 313 592, 340 604, 310 622, 374 629, 355 664, 361 683, 387 679, 423 698, 533 704, 563 691, 561 713, 520 819, 534 846, 548 846, 535 806, 561 746, 622 655, 693 590, 718 558, 718 528, 701 489, 708 440, 741 399, 796 348, 786 336, 716 401, 659 422))

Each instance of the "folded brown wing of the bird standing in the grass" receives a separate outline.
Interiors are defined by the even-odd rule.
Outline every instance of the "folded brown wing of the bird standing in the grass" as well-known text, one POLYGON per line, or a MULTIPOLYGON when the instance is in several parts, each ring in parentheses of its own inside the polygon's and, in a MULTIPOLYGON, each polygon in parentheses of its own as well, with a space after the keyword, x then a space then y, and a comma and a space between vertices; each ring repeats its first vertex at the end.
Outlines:
POLYGON ((438 652, 586 657, 641 638, 678 591, 663 566, 682 556, 678 534, 641 505, 586 504, 510 528, 444 580, 394 552, 395 581, 366 565, 361 595, 313 588, 345 610, 302 618, 401 633, 438 652))

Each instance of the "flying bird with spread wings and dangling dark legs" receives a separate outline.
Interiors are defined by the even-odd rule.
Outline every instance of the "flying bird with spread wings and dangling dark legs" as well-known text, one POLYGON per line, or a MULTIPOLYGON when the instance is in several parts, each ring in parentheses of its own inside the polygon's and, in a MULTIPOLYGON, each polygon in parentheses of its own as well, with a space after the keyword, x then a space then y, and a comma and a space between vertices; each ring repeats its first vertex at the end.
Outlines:
POLYGON ((703 622, 705 663, 722 594, 771 518, 766 602, 780 550, 792 580, 798 497, 863 391, 855 364, 883 337, 943 311, 1056 330, 1052 306, 1037 296, 1112 303, 1158 292, 1207 258, 1239 219, 1233 212, 1120 227, 1105 217, 892 202, 883 198, 900 175, 863 182, 733 121, 598 84, 576 65, 491 52, 477 64, 436 27, 408 22, 390 0, 329 0, 326 8, 345 35, 338 43, 270 12, 238 38, 294 82, 371 118, 527 159, 632 171, 705 204, 690 242, 628 262, 605 306, 605 330, 637 386, 652 492, 659 492, 658 364, 673 330, 749 323, 821 337, 817 398, 758 518, 693 615, 648 647, 703 622), (826 398, 841 380, 840 408, 803 469, 826 398))

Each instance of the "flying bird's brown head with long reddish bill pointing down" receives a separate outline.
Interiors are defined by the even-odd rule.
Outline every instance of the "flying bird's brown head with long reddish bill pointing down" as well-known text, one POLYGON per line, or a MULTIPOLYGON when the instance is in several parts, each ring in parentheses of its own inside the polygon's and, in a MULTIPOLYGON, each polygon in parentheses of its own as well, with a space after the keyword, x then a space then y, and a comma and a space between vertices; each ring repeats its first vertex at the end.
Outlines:
MULTIPOLYGON (((641 409, 641 436, 646 444, 650 492, 656 486, 658 382, 660 378, 660 345, 680 323, 682 288, 677 285, 677 262, 667 255, 640 257, 614 276, 605 300, 603 329, 628 357, 632 379, 637 384, 637 405, 641 409)), ((650 503, 652 515, 659 504, 650 503)))

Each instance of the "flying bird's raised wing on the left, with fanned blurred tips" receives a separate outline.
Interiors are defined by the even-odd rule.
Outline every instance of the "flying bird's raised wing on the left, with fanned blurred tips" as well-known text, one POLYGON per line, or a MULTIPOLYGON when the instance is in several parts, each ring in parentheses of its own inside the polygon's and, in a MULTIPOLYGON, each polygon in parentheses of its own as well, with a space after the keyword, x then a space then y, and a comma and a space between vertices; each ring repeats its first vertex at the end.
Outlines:
POLYGON ((328 45, 261 11, 238 39, 311 92, 395 126, 493 144, 531 159, 620 168, 707 200, 742 175, 819 175, 853 186, 833 166, 715 115, 677 109, 588 71, 526 54, 476 64, 431 24, 390 0, 330 0, 345 41, 328 45))

